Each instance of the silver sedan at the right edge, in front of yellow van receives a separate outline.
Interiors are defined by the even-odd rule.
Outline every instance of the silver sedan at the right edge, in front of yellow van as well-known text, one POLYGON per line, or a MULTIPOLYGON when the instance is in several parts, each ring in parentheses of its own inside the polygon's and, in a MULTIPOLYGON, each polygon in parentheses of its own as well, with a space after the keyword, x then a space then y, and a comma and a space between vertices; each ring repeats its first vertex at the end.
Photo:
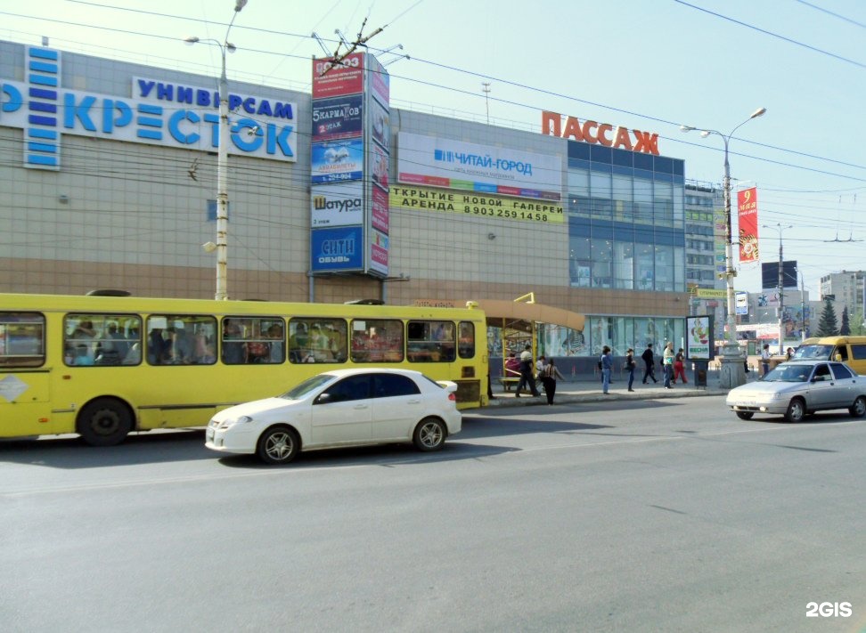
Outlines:
POLYGON ((866 377, 835 361, 788 361, 754 383, 728 392, 725 402, 740 419, 756 413, 785 416, 799 422, 821 410, 847 409, 866 416, 866 377))

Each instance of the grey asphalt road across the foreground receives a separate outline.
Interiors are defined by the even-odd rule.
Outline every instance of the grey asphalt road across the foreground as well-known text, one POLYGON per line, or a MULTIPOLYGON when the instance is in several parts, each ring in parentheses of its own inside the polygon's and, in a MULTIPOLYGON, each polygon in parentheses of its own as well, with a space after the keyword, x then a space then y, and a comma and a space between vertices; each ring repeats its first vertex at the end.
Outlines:
POLYGON ((866 626, 866 420, 745 422, 704 397, 463 424, 432 455, 279 468, 201 432, 2 443, 0 629, 866 626))

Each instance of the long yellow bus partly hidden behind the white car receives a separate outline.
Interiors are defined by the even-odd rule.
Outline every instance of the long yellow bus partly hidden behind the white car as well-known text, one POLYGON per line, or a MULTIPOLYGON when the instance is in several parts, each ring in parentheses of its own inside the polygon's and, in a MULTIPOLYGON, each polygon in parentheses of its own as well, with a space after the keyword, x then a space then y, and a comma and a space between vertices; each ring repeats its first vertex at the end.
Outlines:
POLYGON ((487 399, 485 314, 467 308, 0 294, 0 438, 206 426, 327 369, 419 369, 487 399))

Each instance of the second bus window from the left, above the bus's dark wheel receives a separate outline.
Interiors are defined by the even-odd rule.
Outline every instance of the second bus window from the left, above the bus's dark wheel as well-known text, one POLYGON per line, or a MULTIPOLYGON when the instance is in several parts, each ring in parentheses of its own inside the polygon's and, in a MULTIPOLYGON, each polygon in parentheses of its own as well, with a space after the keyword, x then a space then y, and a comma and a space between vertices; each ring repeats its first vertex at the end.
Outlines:
POLYGON ((63 362, 70 366, 136 365, 142 320, 129 314, 69 313, 63 320, 63 362))

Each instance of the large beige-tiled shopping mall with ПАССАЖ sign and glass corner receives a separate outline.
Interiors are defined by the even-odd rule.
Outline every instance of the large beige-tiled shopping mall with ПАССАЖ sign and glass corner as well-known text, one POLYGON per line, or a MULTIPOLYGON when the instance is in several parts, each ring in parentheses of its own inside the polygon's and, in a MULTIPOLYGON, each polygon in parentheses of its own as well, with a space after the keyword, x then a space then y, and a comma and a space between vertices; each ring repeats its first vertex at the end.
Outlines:
MULTIPOLYGON (((587 316, 558 355, 682 341, 685 169, 658 135, 391 108, 375 58, 347 61, 313 62, 312 94, 230 82, 230 297, 531 292, 587 316)), ((214 296, 214 77, 0 42, 0 85, 0 292, 214 296)))

